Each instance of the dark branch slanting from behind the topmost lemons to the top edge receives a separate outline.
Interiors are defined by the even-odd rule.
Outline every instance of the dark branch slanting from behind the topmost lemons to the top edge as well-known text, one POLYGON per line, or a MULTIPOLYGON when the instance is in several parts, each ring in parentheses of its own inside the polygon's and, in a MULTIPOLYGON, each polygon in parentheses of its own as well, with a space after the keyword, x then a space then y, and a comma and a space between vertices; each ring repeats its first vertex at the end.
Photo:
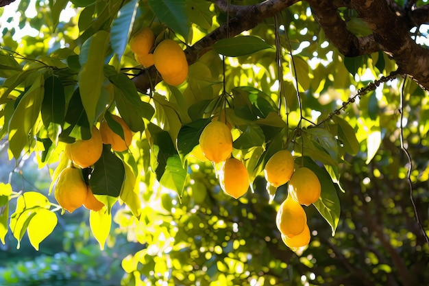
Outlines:
MULTIPOLYGON (((243 6, 236 9, 236 14, 228 23, 228 35, 236 36, 243 31, 252 29, 262 22, 264 19, 270 18, 289 6, 299 2, 300 0, 267 0, 256 5, 243 6)), ((227 35, 226 23, 215 29, 213 32, 201 38, 193 46, 186 48, 186 59, 188 64, 193 64, 204 53, 209 51, 210 47, 221 38, 227 35)), ((155 67, 143 70, 136 78, 133 79, 137 89, 146 92, 151 86, 155 86, 160 82, 160 77, 157 76, 155 67)))

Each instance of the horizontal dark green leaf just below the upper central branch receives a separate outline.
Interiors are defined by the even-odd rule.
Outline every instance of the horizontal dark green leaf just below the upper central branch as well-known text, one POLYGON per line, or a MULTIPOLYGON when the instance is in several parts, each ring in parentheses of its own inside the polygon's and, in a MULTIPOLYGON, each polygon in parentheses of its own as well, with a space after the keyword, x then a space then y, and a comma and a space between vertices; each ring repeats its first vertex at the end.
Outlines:
POLYGON ((256 36, 236 36, 218 40, 213 49, 223 56, 246 56, 262 49, 272 49, 264 40, 256 36))

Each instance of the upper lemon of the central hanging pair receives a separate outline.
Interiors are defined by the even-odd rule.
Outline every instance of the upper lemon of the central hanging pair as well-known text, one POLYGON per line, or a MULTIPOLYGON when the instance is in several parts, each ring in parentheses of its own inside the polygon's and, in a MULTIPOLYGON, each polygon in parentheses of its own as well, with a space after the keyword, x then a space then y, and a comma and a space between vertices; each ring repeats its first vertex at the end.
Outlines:
POLYGON ((232 152, 232 134, 230 128, 221 121, 207 124, 199 136, 199 145, 208 160, 221 163, 230 158, 232 152))

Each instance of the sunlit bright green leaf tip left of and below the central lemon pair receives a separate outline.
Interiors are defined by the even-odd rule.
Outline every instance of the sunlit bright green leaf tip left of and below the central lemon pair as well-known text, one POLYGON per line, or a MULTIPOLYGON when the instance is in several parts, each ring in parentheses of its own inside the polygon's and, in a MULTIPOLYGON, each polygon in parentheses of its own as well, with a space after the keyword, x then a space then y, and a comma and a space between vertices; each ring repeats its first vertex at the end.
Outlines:
POLYGON ((167 165, 164 174, 162 174, 160 184, 182 196, 186 180, 186 169, 182 167, 182 161, 178 155, 167 158, 167 165))

